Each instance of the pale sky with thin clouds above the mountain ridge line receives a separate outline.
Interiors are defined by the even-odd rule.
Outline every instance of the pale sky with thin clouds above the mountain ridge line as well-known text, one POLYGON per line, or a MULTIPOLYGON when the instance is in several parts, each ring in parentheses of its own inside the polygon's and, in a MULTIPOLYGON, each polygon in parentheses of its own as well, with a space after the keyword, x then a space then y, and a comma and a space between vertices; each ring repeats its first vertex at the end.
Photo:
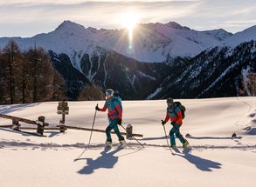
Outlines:
POLYGON ((64 20, 121 29, 127 12, 139 23, 175 21, 193 30, 235 33, 256 25, 256 0, 0 0, 0 37, 32 37, 64 20))

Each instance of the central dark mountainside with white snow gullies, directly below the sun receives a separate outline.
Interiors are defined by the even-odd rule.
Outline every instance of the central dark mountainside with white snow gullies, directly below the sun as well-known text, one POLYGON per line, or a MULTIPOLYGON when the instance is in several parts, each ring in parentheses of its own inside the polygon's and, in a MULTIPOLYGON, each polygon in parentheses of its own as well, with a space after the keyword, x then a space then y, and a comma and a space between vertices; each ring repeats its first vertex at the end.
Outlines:
POLYGON ((124 99, 143 99, 167 76, 164 63, 140 63, 114 51, 99 50, 80 62, 84 75, 102 88, 118 90, 124 99))

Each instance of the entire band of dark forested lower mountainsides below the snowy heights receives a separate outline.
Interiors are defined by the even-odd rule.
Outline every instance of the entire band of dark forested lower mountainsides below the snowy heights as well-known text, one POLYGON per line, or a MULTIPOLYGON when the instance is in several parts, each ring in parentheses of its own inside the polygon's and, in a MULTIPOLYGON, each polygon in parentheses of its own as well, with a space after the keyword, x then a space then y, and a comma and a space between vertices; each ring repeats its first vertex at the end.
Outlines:
POLYGON ((50 55, 54 68, 66 80, 71 99, 78 97, 85 83, 118 90, 123 99, 236 97, 243 87, 242 70, 256 71, 254 41, 234 49, 204 50, 190 59, 170 58, 166 63, 142 63, 99 47, 81 57, 80 70, 66 54, 50 51, 50 55))

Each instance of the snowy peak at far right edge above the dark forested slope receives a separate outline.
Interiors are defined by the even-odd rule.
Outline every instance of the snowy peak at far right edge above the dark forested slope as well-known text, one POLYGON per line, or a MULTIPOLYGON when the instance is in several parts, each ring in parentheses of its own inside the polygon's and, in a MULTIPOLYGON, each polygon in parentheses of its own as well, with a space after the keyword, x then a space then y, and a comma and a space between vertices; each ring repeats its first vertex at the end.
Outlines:
POLYGON ((229 37, 225 41, 224 45, 236 47, 240 43, 250 42, 251 40, 256 40, 256 25, 241 32, 238 32, 234 34, 232 37, 229 37))

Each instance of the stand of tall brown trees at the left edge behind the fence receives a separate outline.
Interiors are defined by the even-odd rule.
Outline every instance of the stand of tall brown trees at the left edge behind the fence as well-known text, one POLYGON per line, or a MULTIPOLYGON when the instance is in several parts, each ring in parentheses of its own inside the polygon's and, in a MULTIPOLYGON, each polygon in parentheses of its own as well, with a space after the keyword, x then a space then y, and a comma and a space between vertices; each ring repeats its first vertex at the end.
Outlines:
POLYGON ((10 41, 0 50, 0 103, 35 103, 66 99, 66 83, 44 49, 24 53, 10 41))

